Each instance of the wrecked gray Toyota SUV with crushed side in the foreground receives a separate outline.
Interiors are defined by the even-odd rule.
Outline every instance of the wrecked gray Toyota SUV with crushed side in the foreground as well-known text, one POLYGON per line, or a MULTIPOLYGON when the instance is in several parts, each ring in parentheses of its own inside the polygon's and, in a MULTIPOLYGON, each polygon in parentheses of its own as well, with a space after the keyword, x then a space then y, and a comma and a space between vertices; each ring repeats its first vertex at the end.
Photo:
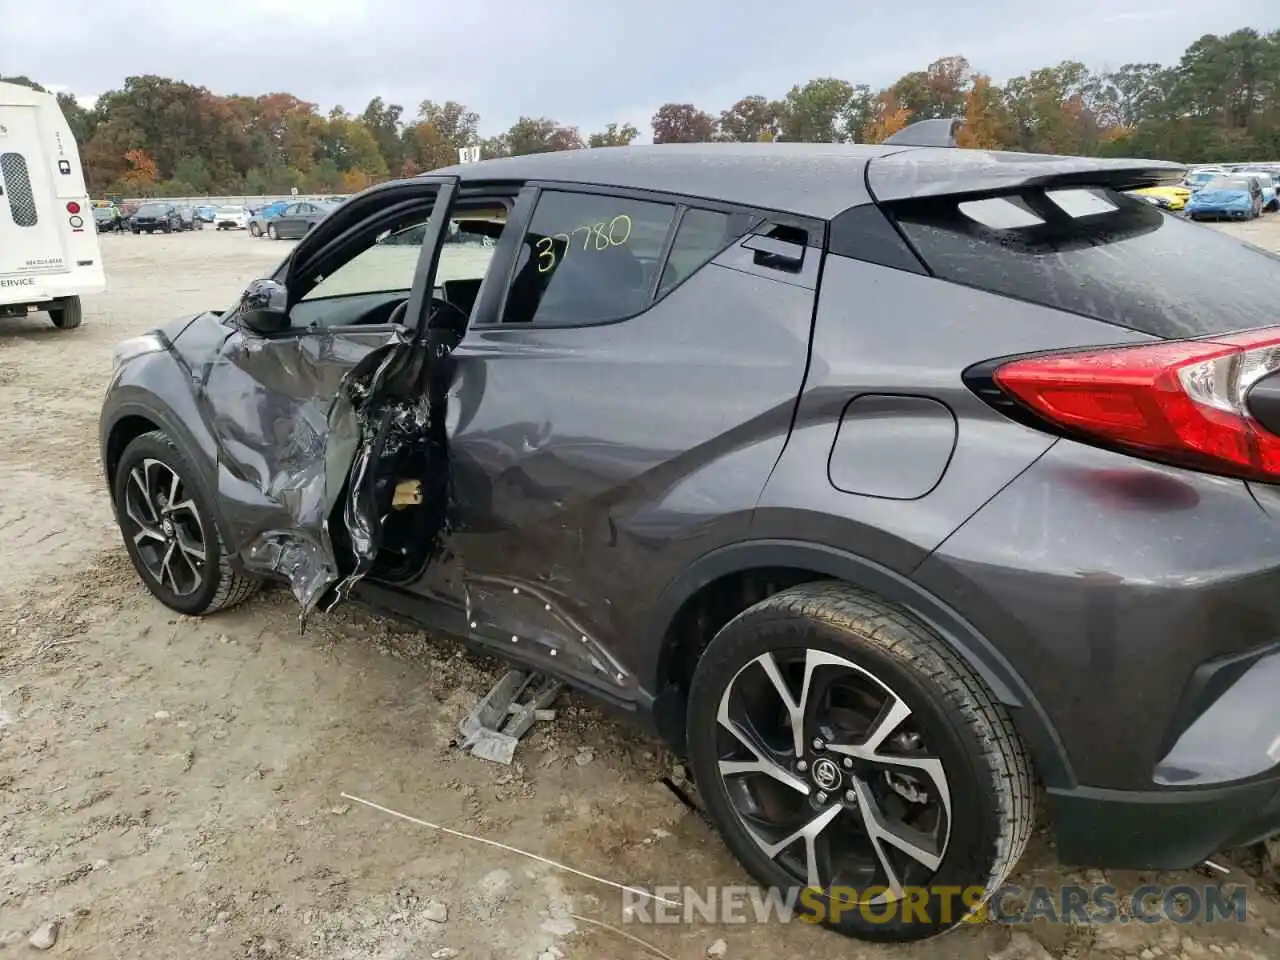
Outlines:
POLYGON ((1073 864, 1270 836, 1280 261, 1126 196, 1176 165, 937 142, 353 197, 120 344, 142 581, 356 595, 568 681, 687 759, 762 884, 874 901, 819 911, 856 937, 957 922, 893 905, 997 887, 1038 787, 1073 864))

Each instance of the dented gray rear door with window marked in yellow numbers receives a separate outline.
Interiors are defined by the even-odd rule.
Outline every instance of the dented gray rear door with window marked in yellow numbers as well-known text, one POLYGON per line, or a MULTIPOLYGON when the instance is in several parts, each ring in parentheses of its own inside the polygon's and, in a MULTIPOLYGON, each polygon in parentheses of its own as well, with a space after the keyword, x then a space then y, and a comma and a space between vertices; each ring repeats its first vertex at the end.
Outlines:
MULTIPOLYGON (((823 224, 545 184, 452 353, 456 503, 415 589, 472 640, 631 701, 654 595, 740 539, 804 380, 823 224)), ((500 262, 500 260, 499 260, 500 262)))

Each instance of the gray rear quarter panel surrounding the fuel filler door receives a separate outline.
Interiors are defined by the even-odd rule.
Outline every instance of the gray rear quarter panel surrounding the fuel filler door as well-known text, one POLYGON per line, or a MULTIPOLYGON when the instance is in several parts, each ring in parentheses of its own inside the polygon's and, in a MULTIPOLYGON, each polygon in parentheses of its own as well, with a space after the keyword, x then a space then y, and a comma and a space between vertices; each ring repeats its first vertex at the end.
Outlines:
MULTIPOLYGON (((1025 470, 1053 438, 1015 424, 961 380, 970 365, 1059 347, 1149 339, 1119 326, 849 257, 826 260, 812 360, 786 449, 760 497, 754 536, 849 550, 891 570, 915 568, 943 539, 1025 470), (874 429, 837 428, 851 401, 874 398, 874 429), (920 398, 954 416, 913 447, 920 398), (942 444, 948 456, 940 456, 942 444), (941 477, 937 476, 943 462, 941 477), (837 489, 833 465, 864 475, 879 495, 837 489), (883 465, 901 493, 883 495, 883 465), (920 494, 920 490, 925 493, 920 494)), ((856 407, 855 407, 856 410, 856 407)), ((847 422, 846 422, 847 426, 847 422)))

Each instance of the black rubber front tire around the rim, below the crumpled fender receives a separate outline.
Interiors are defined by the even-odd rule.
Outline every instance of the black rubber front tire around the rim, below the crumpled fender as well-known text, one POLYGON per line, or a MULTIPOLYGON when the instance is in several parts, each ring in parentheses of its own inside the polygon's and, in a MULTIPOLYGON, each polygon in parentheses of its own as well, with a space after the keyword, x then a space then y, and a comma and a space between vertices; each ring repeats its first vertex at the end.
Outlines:
POLYGON ((238 573, 232 567, 221 531, 218 529, 216 515, 204 485, 182 451, 163 430, 143 434, 124 448, 115 467, 115 476, 111 477, 111 495, 116 508, 120 536, 129 553, 129 559, 133 561, 133 567, 142 582, 165 607, 192 617, 204 616, 234 607, 257 593, 261 581, 238 573), (189 513, 198 520, 205 558, 198 586, 189 593, 179 593, 175 589, 177 584, 169 586, 156 577, 143 559, 136 536, 131 532, 133 521, 125 499, 129 477, 136 468, 143 470, 146 461, 159 462, 179 477, 182 499, 193 504, 189 513))

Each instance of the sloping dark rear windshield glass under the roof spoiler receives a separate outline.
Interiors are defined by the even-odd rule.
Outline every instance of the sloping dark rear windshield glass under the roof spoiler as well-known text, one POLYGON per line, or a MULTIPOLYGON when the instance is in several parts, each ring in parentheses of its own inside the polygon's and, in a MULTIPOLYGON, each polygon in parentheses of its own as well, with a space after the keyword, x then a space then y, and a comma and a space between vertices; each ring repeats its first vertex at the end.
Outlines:
POLYGON ((934 275, 1179 339, 1280 321, 1280 257, 1101 188, 909 201, 934 275))

